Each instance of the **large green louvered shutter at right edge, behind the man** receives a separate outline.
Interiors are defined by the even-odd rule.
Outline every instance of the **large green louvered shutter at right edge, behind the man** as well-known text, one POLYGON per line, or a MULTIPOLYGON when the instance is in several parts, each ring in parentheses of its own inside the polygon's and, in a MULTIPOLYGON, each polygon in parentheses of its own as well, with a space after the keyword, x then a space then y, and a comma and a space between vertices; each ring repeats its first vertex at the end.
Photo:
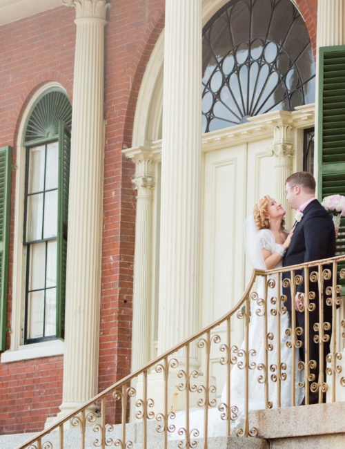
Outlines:
MULTIPOLYGON (((319 49, 318 196, 345 195, 345 46, 319 49)), ((345 254, 345 218, 337 238, 345 254)), ((339 269, 345 264, 339 264, 339 269), (341 265, 341 266, 340 266, 341 265)), ((345 289, 345 280, 340 280, 345 289)))

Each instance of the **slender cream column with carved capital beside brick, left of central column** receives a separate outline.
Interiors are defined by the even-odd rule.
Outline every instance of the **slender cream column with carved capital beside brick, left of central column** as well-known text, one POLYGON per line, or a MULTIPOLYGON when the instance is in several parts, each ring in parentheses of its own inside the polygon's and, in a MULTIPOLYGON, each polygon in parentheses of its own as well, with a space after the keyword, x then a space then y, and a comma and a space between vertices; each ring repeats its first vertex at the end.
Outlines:
POLYGON ((155 173, 154 161, 147 151, 140 151, 133 160, 133 183, 137 190, 132 321, 132 371, 135 371, 150 359, 151 224, 155 173))

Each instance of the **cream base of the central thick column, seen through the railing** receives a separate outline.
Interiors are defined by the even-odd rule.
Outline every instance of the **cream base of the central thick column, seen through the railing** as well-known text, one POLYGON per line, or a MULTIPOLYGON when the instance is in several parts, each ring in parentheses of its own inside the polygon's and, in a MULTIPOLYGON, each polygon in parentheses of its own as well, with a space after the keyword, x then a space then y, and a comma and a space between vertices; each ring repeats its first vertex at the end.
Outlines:
MULTIPOLYGON (((169 372, 168 377, 168 412, 178 412, 179 410, 186 410, 186 390, 180 391, 177 385, 185 384, 185 376, 179 377, 177 372, 169 372)), ((205 391, 202 388, 206 385, 206 376, 204 374, 199 374, 197 378, 193 376, 190 377, 191 386, 196 385, 195 392, 189 392, 189 406, 198 407, 198 401, 202 401, 205 398, 205 391), (197 390, 201 388, 200 392, 197 390)), ((210 387, 216 385, 216 380, 214 376, 210 376, 210 387)), ((216 400, 215 388, 209 390, 209 401, 213 399, 216 400)), ((137 380, 136 387, 137 394, 135 396, 135 402, 138 399, 144 398, 144 383, 143 377, 139 376, 137 380)), ((148 386, 147 386, 147 397, 152 399, 152 407, 148 407, 148 412, 154 412, 155 416, 158 413, 164 413, 164 391, 165 391, 165 381, 162 374, 160 373, 150 373, 148 374, 148 386)), ((135 414, 139 412, 141 408, 135 408, 135 414)), ((132 415, 133 417, 133 415, 132 415)))

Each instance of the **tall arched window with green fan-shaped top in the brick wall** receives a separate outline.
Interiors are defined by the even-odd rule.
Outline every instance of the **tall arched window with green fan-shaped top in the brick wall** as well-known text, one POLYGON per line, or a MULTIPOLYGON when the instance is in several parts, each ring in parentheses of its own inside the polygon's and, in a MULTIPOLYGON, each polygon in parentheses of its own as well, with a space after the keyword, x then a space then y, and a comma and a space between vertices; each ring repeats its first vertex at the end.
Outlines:
POLYGON ((63 337, 72 106, 50 88, 26 123, 24 343, 63 337))

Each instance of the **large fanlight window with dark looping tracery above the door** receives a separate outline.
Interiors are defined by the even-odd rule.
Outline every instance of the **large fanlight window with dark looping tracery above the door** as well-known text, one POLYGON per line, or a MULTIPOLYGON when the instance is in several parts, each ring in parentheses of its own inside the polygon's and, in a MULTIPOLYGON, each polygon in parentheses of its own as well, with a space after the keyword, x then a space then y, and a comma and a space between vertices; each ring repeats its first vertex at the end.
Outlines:
POLYGON ((315 63, 290 0, 231 0, 203 32, 202 131, 314 102, 315 63))

